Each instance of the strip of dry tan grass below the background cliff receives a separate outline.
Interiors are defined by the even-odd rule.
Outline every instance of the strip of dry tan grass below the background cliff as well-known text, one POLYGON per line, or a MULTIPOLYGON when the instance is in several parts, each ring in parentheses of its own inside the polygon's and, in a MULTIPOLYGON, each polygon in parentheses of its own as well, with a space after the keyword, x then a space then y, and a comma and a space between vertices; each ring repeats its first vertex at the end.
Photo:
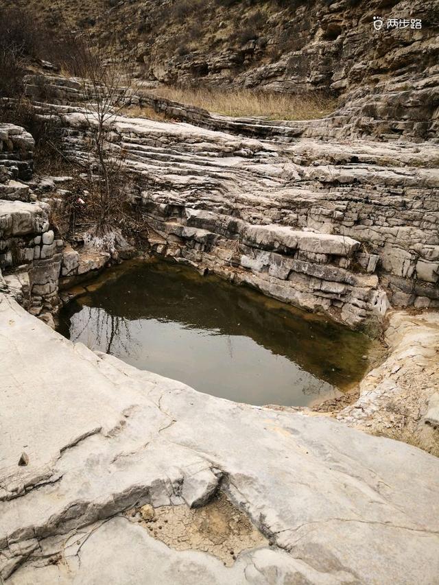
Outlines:
POLYGON ((231 117, 266 117, 270 120, 310 120, 324 117, 337 106, 332 97, 287 95, 246 89, 213 90, 162 86, 152 95, 204 108, 231 117))

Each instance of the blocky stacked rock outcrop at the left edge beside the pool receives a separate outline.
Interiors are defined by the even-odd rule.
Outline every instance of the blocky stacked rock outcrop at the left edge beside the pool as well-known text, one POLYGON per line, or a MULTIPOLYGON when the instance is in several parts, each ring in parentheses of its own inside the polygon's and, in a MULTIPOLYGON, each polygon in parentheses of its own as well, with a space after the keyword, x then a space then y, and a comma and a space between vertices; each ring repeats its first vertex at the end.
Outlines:
POLYGON ((51 208, 36 202, 16 178, 32 176, 34 139, 18 126, 0 125, 0 270, 10 294, 33 315, 53 323, 58 310, 62 239, 49 223, 51 208))

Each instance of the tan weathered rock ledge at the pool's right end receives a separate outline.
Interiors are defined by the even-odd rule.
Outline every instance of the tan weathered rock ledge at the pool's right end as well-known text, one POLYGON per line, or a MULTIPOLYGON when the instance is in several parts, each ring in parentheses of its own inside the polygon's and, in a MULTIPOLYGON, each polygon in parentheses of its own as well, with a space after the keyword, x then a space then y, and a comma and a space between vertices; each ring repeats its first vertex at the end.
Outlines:
POLYGON ((385 330, 388 357, 359 385, 359 398, 337 420, 408 440, 439 455, 439 313, 396 312, 385 330))

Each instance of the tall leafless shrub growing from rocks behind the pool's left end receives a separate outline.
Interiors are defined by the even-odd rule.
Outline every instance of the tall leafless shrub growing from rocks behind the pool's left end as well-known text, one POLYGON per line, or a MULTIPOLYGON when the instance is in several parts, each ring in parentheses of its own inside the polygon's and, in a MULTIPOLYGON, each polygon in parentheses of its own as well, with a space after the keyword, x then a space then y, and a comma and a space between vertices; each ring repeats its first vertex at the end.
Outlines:
POLYGON ((131 182, 114 130, 117 115, 132 99, 134 62, 121 51, 117 38, 103 49, 84 32, 76 39, 67 67, 80 82, 87 110, 82 219, 93 235, 102 238, 120 228, 128 211, 131 182))

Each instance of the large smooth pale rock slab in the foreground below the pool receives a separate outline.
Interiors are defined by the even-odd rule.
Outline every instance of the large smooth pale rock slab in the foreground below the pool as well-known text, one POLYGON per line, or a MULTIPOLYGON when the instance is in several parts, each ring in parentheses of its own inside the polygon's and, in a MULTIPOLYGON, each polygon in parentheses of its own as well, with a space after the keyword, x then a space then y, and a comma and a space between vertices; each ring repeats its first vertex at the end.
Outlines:
POLYGON ((0 356, 7 583, 436 583, 435 457, 200 394, 74 346, 5 297, 0 356), (232 566, 125 516, 203 506, 218 489, 270 540, 232 566))

